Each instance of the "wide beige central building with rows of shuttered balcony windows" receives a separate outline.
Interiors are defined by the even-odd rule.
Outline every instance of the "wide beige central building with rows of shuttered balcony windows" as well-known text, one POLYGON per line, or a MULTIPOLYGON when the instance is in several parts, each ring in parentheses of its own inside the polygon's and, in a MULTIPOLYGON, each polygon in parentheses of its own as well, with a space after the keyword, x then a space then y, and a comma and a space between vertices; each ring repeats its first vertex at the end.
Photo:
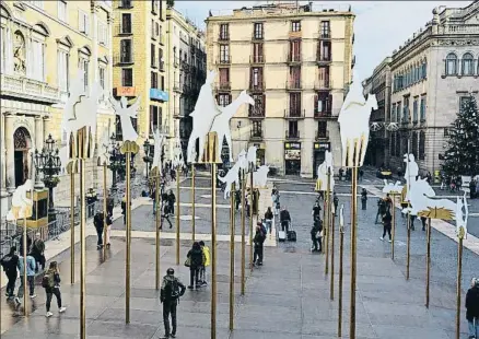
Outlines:
POLYGON ((208 70, 219 73, 217 101, 229 105, 243 90, 231 120, 233 154, 256 145, 258 164, 313 177, 331 150, 340 164, 337 122, 351 82, 354 14, 350 9, 277 3, 207 19, 208 70))

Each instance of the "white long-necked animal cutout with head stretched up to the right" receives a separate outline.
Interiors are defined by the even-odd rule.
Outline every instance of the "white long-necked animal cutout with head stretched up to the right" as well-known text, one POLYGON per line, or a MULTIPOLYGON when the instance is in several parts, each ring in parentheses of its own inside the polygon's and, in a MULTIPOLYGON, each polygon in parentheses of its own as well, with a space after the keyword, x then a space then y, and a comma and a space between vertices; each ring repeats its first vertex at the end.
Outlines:
POLYGON ((243 104, 255 105, 255 101, 246 93, 246 91, 240 93, 240 96, 230 105, 219 107, 222 113, 214 118, 213 126, 211 127, 211 131, 218 133, 218 154, 221 154, 223 139, 226 138, 227 148, 230 150, 230 162, 233 162, 230 120, 243 104))

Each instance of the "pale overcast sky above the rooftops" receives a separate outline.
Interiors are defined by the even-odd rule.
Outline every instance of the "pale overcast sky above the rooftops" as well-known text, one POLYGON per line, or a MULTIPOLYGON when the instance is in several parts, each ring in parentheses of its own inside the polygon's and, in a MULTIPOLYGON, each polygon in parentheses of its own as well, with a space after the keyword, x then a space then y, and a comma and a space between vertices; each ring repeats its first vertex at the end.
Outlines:
MULTIPOLYGON (((175 7, 198 26, 205 27, 209 10, 213 15, 231 13, 232 9, 273 1, 175 1, 175 7)), ((283 1, 287 2, 287 1, 283 1)), ((300 1, 301 4, 308 1, 300 1)), ((394 49, 412 37, 414 32, 432 20, 439 5, 465 7, 472 1, 313 1, 313 10, 320 7, 351 4, 354 22, 355 69, 361 79, 370 77, 374 68, 394 49)))

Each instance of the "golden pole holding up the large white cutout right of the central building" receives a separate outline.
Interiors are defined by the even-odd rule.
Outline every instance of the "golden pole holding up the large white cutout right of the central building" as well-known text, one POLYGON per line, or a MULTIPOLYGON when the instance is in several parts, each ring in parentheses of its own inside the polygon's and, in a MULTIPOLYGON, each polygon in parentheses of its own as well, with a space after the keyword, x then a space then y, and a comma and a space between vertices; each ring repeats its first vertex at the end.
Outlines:
MULTIPOLYGON (((358 149, 358 147, 355 147, 358 149)), ((357 212, 358 212, 358 167, 352 167, 351 178, 352 206, 351 206, 351 288, 350 288, 350 315, 349 338, 355 339, 355 274, 357 274, 357 212)))

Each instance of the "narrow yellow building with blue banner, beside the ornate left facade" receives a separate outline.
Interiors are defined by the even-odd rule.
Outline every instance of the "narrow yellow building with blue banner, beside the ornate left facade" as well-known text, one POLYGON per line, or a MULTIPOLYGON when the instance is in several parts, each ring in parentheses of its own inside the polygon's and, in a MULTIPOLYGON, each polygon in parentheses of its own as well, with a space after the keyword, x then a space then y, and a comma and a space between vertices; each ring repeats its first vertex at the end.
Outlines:
MULTIPOLYGON (((113 7, 113 95, 117 100, 126 96, 129 104, 140 101, 132 122, 141 144, 153 138, 156 127, 170 132, 165 128, 172 119, 165 107, 166 1, 115 0, 113 7)), ((119 118, 116 122, 116 137, 122 140, 119 118)), ((137 165, 143 166, 141 156, 137 165)))

